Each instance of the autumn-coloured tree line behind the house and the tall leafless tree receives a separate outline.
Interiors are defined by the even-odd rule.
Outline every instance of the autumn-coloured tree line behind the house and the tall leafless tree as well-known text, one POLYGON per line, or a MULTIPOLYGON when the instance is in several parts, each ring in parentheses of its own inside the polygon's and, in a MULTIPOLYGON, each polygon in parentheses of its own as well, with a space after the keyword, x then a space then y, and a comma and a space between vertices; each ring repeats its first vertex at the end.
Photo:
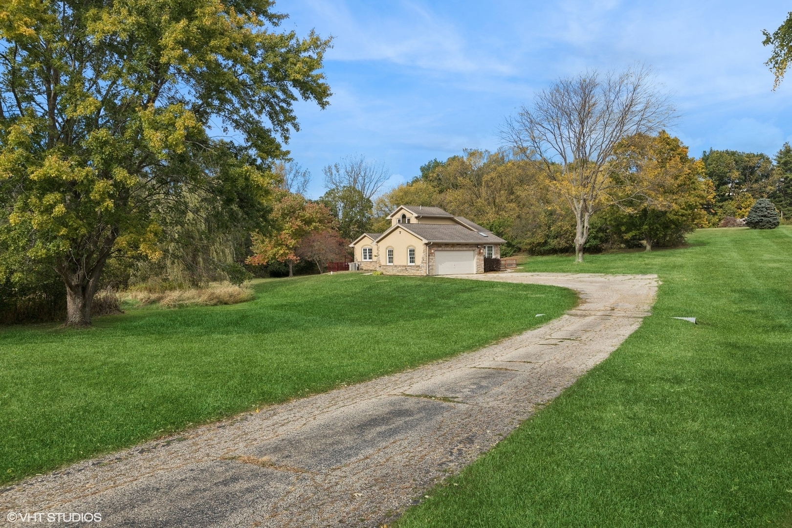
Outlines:
MULTIPOLYGON (((672 247, 696 228, 717 227, 725 217, 745 218, 757 199, 769 198, 782 218, 792 215, 792 148, 773 158, 735 150, 709 150, 696 159, 680 139, 661 131, 616 149, 609 178, 625 186, 589 219, 584 249, 672 247), (643 174, 638 175, 638 171, 643 174), (636 190, 637 192, 634 194, 636 190)), ((569 203, 554 191, 535 161, 512 150, 470 149, 432 160, 408 184, 375 202, 372 230, 386 226, 386 211, 400 203, 443 207, 508 241, 504 256, 575 250, 577 225, 569 203)))

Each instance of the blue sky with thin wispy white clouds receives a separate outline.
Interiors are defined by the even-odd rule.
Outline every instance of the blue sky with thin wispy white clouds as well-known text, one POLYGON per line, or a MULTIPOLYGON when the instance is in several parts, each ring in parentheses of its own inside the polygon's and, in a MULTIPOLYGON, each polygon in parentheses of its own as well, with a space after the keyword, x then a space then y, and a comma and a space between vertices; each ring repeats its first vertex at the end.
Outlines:
POLYGON ((388 186, 432 158, 496 150, 498 127, 537 89, 587 69, 650 66, 699 156, 710 147, 774 154, 792 141, 792 75, 775 92, 761 30, 787 2, 388 2, 281 0, 285 29, 334 37, 333 97, 298 104, 288 148, 324 192, 346 154, 385 163, 388 186))

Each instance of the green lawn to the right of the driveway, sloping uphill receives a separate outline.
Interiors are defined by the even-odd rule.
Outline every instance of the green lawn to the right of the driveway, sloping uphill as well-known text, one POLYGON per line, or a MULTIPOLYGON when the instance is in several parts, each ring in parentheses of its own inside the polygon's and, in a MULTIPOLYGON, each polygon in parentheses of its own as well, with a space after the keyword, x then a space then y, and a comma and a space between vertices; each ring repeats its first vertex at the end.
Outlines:
POLYGON ((792 229, 689 241, 579 265, 528 260, 524 271, 657 273, 663 284, 609 359, 399 528, 792 526, 792 229))

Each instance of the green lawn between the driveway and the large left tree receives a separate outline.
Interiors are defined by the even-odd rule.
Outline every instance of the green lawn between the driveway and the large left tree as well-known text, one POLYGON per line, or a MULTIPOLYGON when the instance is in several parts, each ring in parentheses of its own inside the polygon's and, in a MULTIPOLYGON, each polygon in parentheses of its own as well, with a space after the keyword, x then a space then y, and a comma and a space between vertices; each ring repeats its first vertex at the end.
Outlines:
POLYGON ((255 290, 252 302, 131 309, 87 330, 0 329, 0 482, 478 348, 576 302, 561 288, 434 277, 255 290))

